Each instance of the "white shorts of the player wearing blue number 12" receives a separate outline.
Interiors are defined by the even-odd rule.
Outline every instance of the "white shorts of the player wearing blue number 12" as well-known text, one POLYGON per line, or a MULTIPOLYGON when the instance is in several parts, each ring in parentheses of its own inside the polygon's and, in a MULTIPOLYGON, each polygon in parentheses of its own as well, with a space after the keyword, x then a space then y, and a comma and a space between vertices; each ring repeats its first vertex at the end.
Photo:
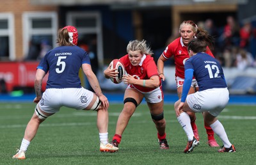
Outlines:
POLYGON ((218 116, 227 106, 228 100, 229 92, 227 88, 196 91, 196 93, 192 93, 186 98, 188 106, 195 113, 208 111, 212 116, 218 116))

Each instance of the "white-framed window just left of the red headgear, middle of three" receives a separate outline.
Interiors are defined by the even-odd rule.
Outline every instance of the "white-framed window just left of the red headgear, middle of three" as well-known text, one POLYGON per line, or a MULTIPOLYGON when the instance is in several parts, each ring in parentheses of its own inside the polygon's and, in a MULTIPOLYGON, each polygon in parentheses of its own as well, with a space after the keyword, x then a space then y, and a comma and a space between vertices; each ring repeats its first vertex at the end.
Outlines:
POLYGON ((38 60, 56 47, 58 17, 56 12, 26 12, 23 14, 24 59, 38 60))

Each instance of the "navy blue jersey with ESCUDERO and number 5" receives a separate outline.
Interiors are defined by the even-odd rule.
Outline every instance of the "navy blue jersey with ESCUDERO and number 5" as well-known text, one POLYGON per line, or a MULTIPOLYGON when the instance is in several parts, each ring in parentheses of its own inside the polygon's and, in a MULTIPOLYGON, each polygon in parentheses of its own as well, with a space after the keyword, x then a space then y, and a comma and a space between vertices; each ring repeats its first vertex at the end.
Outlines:
POLYGON ((45 54, 37 69, 49 72, 46 88, 81 88, 79 69, 90 64, 86 51, 77 46, 61 46, 45 54))

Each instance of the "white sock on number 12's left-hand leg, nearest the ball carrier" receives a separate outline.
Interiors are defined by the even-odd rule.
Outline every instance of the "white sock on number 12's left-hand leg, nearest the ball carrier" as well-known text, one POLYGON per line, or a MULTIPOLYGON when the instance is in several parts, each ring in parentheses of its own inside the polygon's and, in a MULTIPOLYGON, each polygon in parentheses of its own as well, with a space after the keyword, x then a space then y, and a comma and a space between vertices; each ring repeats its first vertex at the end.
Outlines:
POLYGON ((193 140, 194 137, 194 133, 191 127, 191 121, 189 118, 188 113, 180 113, 180 116, 177 118, 182 129, 186 132, 187 136, 188 136, 188 141, 193 140))

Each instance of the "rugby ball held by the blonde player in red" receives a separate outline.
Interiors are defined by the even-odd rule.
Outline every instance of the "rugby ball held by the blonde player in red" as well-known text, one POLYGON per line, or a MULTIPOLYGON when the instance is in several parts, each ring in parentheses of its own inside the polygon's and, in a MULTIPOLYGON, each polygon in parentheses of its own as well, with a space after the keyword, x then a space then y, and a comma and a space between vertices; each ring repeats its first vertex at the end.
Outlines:
POLYGON ((115 78, 110 77, 111 81, 115 84, 119 84, 122 82, 122 77, 125 74, 125 67, 124 63, 120 61, 119 59, 113 59, 110 63, 111 69, 117 68, 116 72, 118 72, 118 76, 115 78))

